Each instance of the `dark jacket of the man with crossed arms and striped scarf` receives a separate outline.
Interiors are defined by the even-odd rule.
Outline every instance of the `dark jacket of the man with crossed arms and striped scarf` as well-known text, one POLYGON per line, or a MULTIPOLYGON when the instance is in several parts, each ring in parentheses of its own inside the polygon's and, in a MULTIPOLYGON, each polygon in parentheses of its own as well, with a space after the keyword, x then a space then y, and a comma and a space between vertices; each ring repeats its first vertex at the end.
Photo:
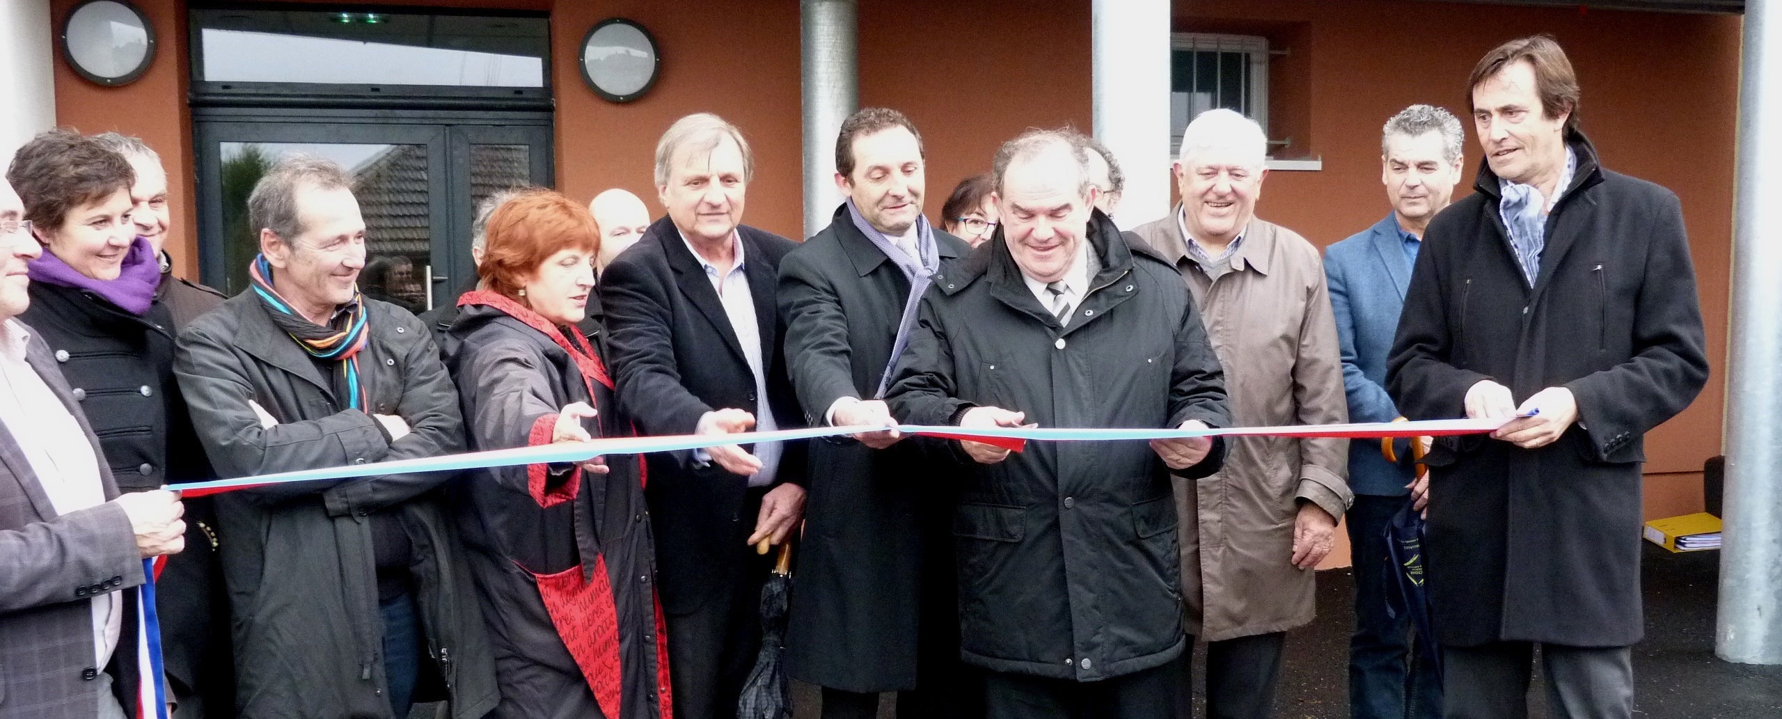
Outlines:
MULTIPOLYGON (((463 450, 463 420, 438 347, 415 315, 365 299, 360 354, 367 408, 412 432, 388 441, 376 420, 344 409, 333 383, 278 329, 249 290, 200 317, 178 340, 175 372, 217 473, 428 457, 463 450), (278 424, 262 427, 249 402, 278 424)), ((216 495, 223 578, 235 623, 242 717, 388 719, 371 513, 394 513, 413 546, 428 657, 446 680, 453 719, 479 719, 497 691, 483 616, 447 475, 298 482, 216 495)))

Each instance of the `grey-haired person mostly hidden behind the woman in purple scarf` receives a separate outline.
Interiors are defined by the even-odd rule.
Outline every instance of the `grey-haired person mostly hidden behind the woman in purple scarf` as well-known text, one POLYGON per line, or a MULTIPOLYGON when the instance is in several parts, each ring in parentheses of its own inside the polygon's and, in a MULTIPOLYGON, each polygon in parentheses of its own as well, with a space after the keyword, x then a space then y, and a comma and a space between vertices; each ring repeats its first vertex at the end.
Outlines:
POLYGON ((135 237, 148 240, 160 258, 160 285, 155 287, 155 299, 168 304, 173 313, 173 329, 185 329, 187 324, 217 304, 223 304, 223 292, 173 276, 173 256, 168 254, 168 231, 173 226, 173 206, 168 201, 168 169, 160 164, 160 153, 139 137, 103 132, 93 135, 107 149, 130 160, 135 171, 135 183, 130 185, 130 221, 135 222, 135 237))

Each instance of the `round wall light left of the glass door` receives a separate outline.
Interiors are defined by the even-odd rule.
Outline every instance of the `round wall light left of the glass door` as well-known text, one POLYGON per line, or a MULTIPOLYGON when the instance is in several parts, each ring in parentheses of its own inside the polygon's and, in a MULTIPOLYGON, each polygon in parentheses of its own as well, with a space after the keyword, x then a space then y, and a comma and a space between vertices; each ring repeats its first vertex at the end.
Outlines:
POLYGON ((155 27, 127 0, 84 0, 62 21, 62 57, 91 82, 125 85, 155 61, 155 27))

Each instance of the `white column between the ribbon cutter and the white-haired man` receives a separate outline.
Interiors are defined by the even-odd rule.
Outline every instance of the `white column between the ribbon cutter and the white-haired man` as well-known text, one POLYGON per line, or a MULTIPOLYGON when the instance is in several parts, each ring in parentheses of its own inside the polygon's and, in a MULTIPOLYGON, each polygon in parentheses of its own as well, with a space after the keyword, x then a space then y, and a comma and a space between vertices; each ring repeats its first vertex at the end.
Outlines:
POLYGON ((1094 0, 1094 133, 1119 158, 1121 230, 1169 214, 1169 0, 1094 0))

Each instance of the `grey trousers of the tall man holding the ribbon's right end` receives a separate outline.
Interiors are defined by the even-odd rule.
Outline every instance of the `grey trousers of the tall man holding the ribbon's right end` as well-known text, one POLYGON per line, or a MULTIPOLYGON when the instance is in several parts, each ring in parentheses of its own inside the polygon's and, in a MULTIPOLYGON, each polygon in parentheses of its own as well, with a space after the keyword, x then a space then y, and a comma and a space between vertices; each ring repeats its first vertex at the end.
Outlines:
MULTIPOLYGON (((1632 648, 1541 644, 1547 701, 1554 719, 1631 719, 1632 648)), ((1447 719, 1525 719, 1534 644, 1495 642, 1442 648, 1447 719)))

